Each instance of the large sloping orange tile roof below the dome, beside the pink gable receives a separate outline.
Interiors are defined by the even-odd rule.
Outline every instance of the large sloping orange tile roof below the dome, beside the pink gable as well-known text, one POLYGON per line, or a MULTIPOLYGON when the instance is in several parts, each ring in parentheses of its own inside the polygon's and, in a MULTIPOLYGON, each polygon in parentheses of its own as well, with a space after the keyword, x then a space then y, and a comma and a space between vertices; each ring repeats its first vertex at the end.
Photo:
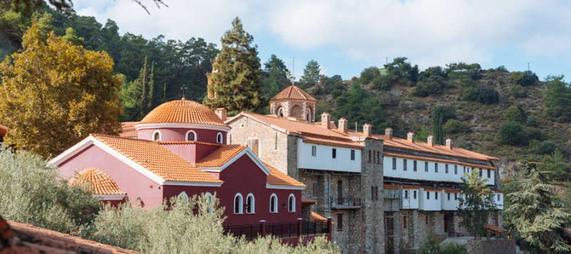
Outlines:
POLYGON ((98 134, 91 136, 165 181, 222 183, 158 142, 98 134))

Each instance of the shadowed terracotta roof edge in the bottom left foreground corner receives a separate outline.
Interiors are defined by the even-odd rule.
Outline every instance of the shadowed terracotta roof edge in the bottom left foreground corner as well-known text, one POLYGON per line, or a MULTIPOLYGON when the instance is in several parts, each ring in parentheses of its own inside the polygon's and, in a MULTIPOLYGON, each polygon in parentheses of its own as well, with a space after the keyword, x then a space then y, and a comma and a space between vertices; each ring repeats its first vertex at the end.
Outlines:
POLYGON ((10 243, 0 253, 138 253, 54 230, 7 221, 1 216, 0 242, 10 243))

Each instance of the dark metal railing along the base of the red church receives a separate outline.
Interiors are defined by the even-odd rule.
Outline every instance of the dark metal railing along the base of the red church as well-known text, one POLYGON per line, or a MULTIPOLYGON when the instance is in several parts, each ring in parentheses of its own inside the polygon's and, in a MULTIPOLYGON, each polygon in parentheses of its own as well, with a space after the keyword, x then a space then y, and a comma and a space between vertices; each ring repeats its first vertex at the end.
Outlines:
POLYGON ((260 223, 252 225, 228 225, 223 227, 225 234, 231 234, 239 237, 244 235, 246 240, 253 240, 261 235, 267 234, 276 236, 277 238, 293 238, 303 235, 323 235, 329 233, 331 225, 328 220, 299 220, 292 223, 260 223))

